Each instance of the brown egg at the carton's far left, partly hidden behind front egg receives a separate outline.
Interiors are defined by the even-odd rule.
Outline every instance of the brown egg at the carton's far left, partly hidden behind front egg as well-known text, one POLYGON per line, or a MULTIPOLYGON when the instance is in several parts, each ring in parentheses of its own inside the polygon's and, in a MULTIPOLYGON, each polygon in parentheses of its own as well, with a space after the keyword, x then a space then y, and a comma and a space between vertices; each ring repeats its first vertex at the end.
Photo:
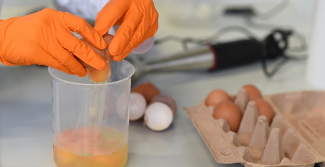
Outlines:
POLYGON ((207 106, 217 106, 220 102, 231 101, 228 93, 221 89, 212 90, 205 100, 207 106))

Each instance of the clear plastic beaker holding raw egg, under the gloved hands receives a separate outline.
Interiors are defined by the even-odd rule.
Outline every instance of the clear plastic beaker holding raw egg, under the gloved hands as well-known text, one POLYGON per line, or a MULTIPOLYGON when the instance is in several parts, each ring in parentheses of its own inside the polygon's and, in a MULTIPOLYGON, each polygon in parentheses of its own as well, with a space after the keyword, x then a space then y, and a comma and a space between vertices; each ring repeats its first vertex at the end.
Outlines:
POLYGON ((134 67, 126 60, 110 65, 110 82, 100 84, 49 67, 54 161, 58 167, 125 166, 134 67))

